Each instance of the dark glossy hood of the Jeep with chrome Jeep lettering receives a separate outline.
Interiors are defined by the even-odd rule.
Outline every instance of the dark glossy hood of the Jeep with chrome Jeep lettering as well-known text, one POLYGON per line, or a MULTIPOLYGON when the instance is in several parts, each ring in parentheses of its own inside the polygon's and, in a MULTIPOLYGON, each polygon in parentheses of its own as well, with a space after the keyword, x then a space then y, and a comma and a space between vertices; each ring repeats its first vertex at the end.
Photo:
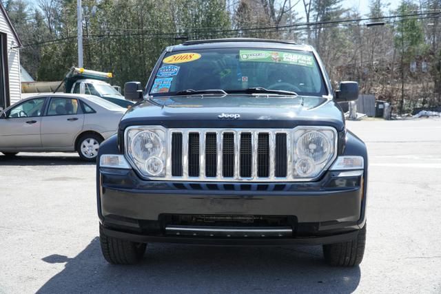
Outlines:
POLYGON ((164 127, 291 128, 296 125, 328 125, 345 128, 340 107, 332 100, 312 96, 165 96, 129 109, 121 120, 128 125, 164 127), (219 118, 239 114, 236 118, 219 118))

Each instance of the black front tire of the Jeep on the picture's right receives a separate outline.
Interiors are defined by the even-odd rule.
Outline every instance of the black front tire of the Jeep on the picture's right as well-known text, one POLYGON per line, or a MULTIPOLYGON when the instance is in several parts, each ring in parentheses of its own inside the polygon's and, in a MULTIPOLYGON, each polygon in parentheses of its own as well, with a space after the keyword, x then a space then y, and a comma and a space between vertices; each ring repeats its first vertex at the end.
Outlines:
POLYGON ((358 266, 365 254, 365 244, 366 224, 354 240, 323 245, 325 261, 331 266, 358 266))

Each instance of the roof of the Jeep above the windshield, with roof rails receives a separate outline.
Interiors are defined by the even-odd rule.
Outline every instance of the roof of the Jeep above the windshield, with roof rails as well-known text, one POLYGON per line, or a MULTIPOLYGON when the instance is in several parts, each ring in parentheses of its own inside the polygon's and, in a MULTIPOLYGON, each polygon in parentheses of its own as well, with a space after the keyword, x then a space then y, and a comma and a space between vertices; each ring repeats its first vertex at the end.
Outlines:
POLYGON ((289 40, 272 39, 252 39, 252 38, 227 38, 227 39, 209 39, 186 41, 180 45, 174 45, 167 48, 168 52, 187 51, 198 49, 214 48, 271 48, 271 49, 294 49, 302 51, 312 51, 309 45, 298 45, 289 40))

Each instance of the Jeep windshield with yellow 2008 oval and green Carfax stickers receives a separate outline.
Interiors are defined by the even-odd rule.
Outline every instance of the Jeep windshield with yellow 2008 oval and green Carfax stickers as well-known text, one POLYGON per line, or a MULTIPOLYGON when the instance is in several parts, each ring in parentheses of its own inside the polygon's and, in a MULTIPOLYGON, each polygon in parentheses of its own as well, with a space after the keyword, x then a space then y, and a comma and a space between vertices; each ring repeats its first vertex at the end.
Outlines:
MULTIPOLYGON (((209 49, 167 53, 150 94, 191 94, 188 90, 253 93, 254 88, 283 90, 303 96, 327 94, 311 52, 266 49, 209 49)), ((256 91, 258 92, 258 91, 256 91)), ((215 94, 215 93, 212 93, 215 94)))

